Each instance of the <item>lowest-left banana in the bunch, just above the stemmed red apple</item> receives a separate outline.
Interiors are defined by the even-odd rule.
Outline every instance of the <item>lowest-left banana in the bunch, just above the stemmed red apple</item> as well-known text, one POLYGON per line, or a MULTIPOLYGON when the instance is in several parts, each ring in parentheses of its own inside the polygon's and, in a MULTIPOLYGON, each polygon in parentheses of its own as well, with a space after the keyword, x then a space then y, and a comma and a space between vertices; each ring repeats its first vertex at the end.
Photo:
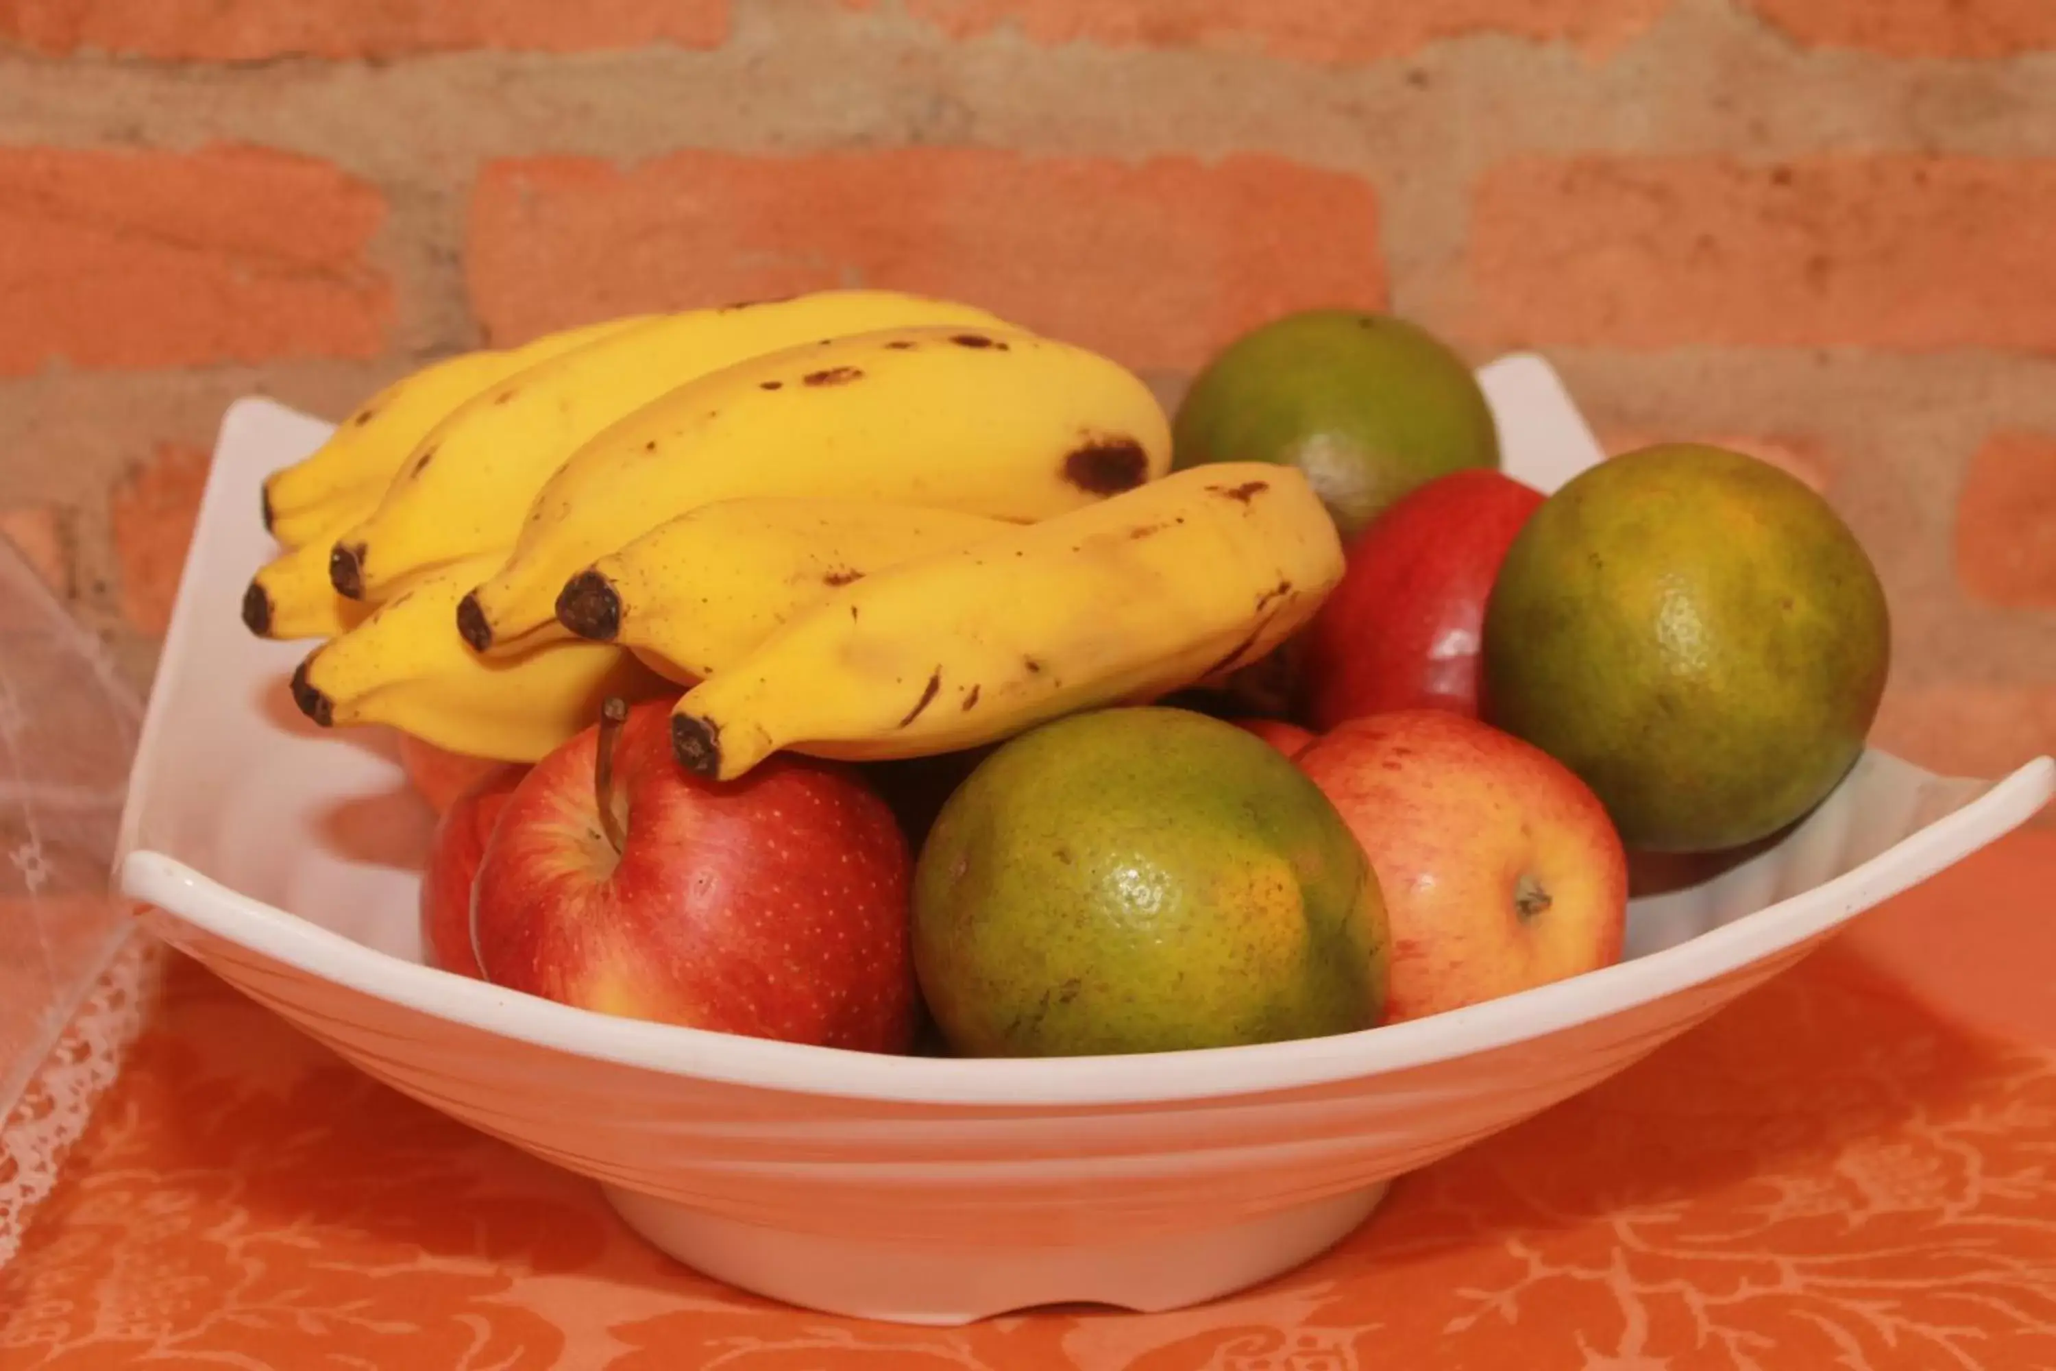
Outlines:
POLYGON ((491 559, 428 571, 317 647, 292 699, 323 728, 387 724, 450 752, 533 763, 600 717, 609 695, 650 699, 676 687, 604 643, 551 643, 485 662, 450 615, 491 559))

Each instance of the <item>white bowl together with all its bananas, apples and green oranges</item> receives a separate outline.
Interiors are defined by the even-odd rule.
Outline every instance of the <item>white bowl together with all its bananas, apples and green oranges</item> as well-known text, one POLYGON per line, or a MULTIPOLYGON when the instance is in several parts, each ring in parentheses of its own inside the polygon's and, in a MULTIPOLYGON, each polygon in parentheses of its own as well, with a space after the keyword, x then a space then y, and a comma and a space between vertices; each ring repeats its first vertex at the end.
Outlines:
POLYGON ((2048 798, 1865 748, 1885 600, 1813 491, 1595 458, 1386 314, 1168 415, 866 290, 236 411, 123 884, 738 1285, 1205 1299, 2048 798), (339 841, 399 775, 434 830, 339 841))

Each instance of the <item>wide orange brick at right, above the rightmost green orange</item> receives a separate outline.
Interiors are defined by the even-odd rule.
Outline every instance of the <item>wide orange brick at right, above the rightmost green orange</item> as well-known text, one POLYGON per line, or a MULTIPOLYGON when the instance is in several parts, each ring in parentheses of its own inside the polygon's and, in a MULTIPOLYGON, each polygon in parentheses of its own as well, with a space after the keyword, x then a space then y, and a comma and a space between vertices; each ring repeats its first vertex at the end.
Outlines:
POLYGON ((2056 347, 2056 160, 1519 158, 1474 203, 1499 345, 2056 347))

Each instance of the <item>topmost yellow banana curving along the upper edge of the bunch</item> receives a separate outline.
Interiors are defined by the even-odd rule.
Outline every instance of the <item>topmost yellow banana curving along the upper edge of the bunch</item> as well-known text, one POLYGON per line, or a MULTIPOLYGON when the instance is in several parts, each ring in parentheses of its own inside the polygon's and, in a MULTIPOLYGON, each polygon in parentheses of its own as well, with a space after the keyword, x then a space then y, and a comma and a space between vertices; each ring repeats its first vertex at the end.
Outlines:
POLYGON ((378 508, 335 541, 335 588, 376 600, 384 586, 419 567, 512 545, 537 491, 563 458, 695 376, 796 343, 913 323, 1001 325, 981 308, 948 300, 824 290, 670 314, 539 366, 463 405, 421 438, 378 508))

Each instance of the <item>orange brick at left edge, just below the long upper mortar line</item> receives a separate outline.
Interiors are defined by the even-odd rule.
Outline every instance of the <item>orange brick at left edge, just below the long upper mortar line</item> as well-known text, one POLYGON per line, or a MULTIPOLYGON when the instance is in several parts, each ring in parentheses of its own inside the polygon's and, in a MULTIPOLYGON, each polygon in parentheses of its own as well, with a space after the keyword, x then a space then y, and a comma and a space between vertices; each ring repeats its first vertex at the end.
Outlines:
POLYGON ((0 374, 384 347, 384 199, 259 148, 0 148, 0 374))

